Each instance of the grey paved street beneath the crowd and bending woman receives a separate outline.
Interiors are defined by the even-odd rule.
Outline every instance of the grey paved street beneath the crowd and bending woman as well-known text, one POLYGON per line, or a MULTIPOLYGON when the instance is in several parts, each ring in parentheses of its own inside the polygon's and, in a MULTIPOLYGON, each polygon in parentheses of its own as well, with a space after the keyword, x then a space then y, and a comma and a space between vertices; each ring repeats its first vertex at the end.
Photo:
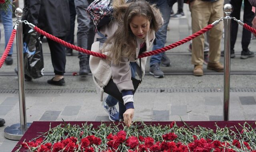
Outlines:
MULTIPOLYGON (((22 0, 20 0, 22 1, 22 0)), ((22 6, 22 4, 20 4, 22 6)), ((176 12, 176 4, 173 6, 176 12)), ((186 19, 170 20, 170 30, 166 44, 176 42, 191 33, 191 18, 188 5, 184 5, 186 19)), ((0 26, 1 32, 3 26, 0 26)), ((236 58, 231 60, 232 71, 255 71, 256 60, 240 59, 241 33, 239 28, 236 42, 236 58)), ((0 46, 4 46, 4 37, 0 46)), ((256 40, 250 44, 255 52, 256 40)), ((76 36, 75 36, 76 42, 76 36)), ((14 42, 16 45, 16 42, 14 42)), ((172 66, 161 67, 164 72, 192 72, 190 63, 189 43, 167 52, 172 60, 172 66)), ((224 42, 222 40, 222 48, 224 42)), ((14 47, 16 52, 16 47, 14 47)), ((52 78, 52 64, 47 43, 43 43, 45 71, 48 75, 25 82, 27 122, 33 121, 108 121, 108 115, 103 110, 102 102, 95 93, 92 76, 72 76, 78 72, 77 52, 67 57, 65 75, 66 86, 50 86, 46 81, 52 78)), ((2 53, 2 52, 1 52, 2 53)), ((14 74, 17 66, 16 54, 14 64, 4 65, 0 69, 0 118, 6 120, 0 127, 0 152, 10 152, 17 141, 4 138, 4 128, 20 123, 18 80, 14 74), (5 76, 8 74, 8 76, 5 76)), ((223 58, 221 58, 223 63, 223 58)), ((149 69, 147 64, 146 70, 149 69)), ((206 70, 206 72, 211 72, 206 70)), ((234 74, 230 78, 230 120, 256 120, 256 75, 234 74)), ((223 74, 208 74, 202 77, 187 75, 165 75, 162 79, 146 75, 134 96, 136 121, 221 121, 223 120, 223 74)), ((106 94, 105 94, 106 96, 106 94)))

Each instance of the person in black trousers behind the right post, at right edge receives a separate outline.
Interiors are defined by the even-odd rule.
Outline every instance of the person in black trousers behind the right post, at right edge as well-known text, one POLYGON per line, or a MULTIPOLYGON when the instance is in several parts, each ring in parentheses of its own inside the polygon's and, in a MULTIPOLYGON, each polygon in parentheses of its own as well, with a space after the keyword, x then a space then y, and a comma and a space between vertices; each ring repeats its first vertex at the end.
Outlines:
MULTIPOLYGON (((233 12, 231 13, 232 17, 240 20, 240 11, 242 6, 242 0, 231 0, 230 4, 233 6, 233 12)), ((252 12, 252 5, 249 3, 248 0, 244 0, 244 23, 252 26, 252 20, 254 18, 254 12, 252 12)), ((238 32, 238 24, 235 20, 231 21, 231 57, 235 57, 234 54, 234 46, 236 43, 236 37, 238 32)), ((254 57, 254 53, 248 49, 248 46, 251 41, 252 33, 245 28, 243 28, 242 32, 242 52, 241 57, 242 59, 254 57)))

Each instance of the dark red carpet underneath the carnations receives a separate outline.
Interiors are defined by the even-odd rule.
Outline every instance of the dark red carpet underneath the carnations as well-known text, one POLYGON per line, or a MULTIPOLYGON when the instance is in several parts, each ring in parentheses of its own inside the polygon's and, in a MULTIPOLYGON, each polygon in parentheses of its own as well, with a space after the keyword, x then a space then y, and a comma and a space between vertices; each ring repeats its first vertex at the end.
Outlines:
MULTIPOLYGON (((240 126, 238 125, 238 123, 243 124, 244 122, 247 122, 248 124, 250 124, 252 127, 256 127, 255 125, 255 121, 218 121, 216 122, 216 124, 220 127, 223 128, 225 126, 230 127, 230 126, 236 126, 238 129, 240 128, 240 126)), ((12 152, 15 152, 15 150, 17 150, 21 144, 21 142, 23 142, 24 140, 26 142, 28 142, 29 140, 31 140, 32 138, 37 137, 37 135, 40 135, 39 132, 47 132, 49 130, 50 127, 50 123, 51 123, 51 128, 58 126, 59 124, 63 124, 64 122, 33 122, 30 126, 30 128, 28 128, 27 132, 24 134, 24 136, 20 139, 20 141, 18 142, 18 144, 15 146, 15 148, 12 150, 12 152)), ((70 123, 72 125, 74 124, 84 124, 85 122, 66 122, 66 123, 70 123)), ((98 125, 100 125, 101 123, 109 123, 109 122, 87 122, 88 124, 93 124, 94 127, 97 127, 98 125)), ((172 122, 144 122, 146 124, 160 124, 160 125, 166 125, 166 124, 171 124, 172 122)), ((116 123, 118 124, 118 122, 116 123)), ((176 124, 178 126, 183 126, 183 122, 176 122, 176 124)), ((196 121, 192 121, 192 122, 186 122, 186 124, 188 124, 189 126, 202 126, 202 127, 206 127, 206 128, 211 128, 211 129, 215 129, 216 127, 215 125, 215 121, 200 121, 200 122, 196 122, 196 121)), ((25 152, 25 149, 21 149, 20 152, 25 152)))

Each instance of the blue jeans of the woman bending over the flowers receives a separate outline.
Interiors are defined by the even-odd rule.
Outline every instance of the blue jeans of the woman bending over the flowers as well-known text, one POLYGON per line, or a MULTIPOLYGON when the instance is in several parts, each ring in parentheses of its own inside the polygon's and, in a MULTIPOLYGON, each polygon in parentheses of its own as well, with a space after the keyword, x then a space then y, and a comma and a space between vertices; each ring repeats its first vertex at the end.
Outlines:
MULTIPOLYGON (((130 67, 131 67, 131 72, 132 72, 132 78, 135 78, 135 72, 136 72, 136 68, 137 68, 136 62, 130 62, 130 67)), ((126 111, 124 103, 118 102, 118 100, 116 100, 116 98, 108 95, 108 97, 106 99, 106 104, 108 104, 108 106, 115 106, 117 103, 119 106, 119 119, 123 119, 123 114, 126 111)))

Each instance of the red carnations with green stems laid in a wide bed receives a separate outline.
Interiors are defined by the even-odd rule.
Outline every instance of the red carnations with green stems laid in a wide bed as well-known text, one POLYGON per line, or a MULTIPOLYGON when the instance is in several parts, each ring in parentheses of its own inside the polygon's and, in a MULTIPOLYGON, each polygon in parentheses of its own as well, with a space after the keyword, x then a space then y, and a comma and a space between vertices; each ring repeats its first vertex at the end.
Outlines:
POLYGON ((179 127, 147 125, 134 122, 130 127, 122 123, 58 125, 20 148, 30 152, 256 152, 256 129, 248 123, 216 129, 201 126, 179 127), (120 129, 122 128, 122 129, 120 129))

